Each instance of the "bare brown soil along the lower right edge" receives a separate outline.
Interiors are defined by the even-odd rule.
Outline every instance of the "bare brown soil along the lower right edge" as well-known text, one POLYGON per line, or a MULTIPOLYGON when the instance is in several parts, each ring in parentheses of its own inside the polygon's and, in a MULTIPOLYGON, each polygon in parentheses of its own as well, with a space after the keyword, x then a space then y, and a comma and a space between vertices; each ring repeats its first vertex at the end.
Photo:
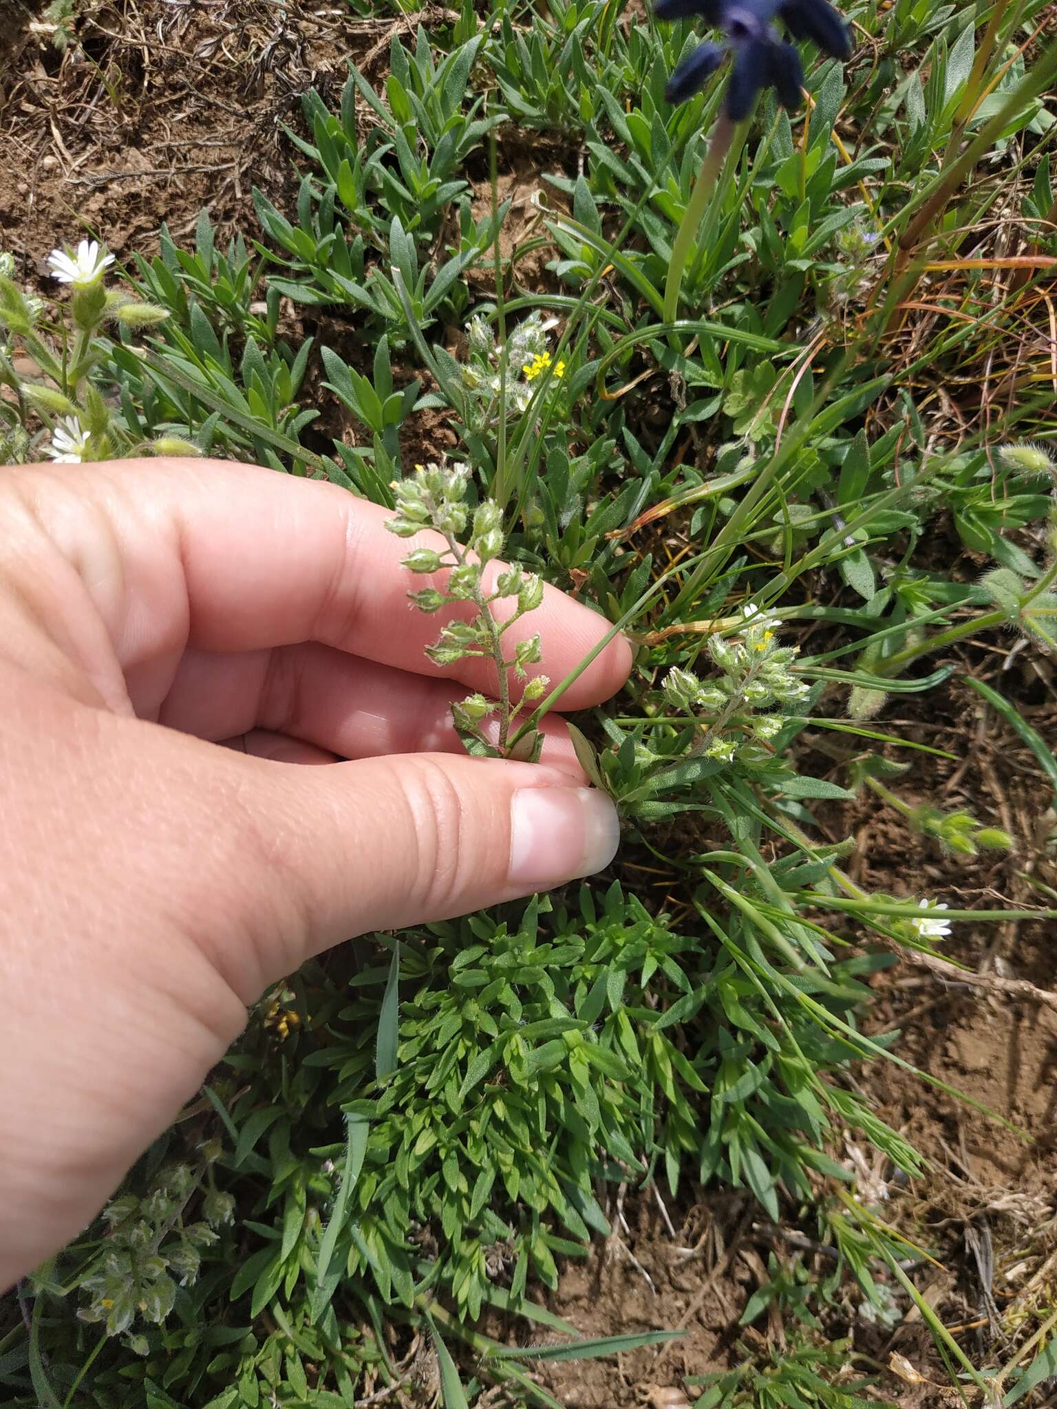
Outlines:
MULTIPOLYGON (((1012 641, 967 645, 946 686, 903 696, 874 727, 948 751, 919 762, 889 786, 906 802, 972 812, 1015 838, 1012 852, 944 857, 913 836, 877 796, 836 809, 830 834, 853 836, 851 875, 868 890, 929 896, 951 907, 1002 909, 1051 903, 1057 868, 1049 851, 1057 827, 1053 788, 1032 752, 989 706, 960 681, 987 679, 1016 702, 1046 740, 1057 740, 1057 692, 1047 661, 1010 652, 1012 641)), ((939 665, 929 661, 929 666, 939 665)), ((889 757, 913 755, 886 750, 889 757)), ((948 958, 1001 978, 1054 988, 1053 921, 958 926, 943 945, 948 958)), ((895 1051, 936 1082, 923 1085, 891 1062, 863 1074, 878 1115, 930 1161, 926 1178, 889 1188, 882 1216, 941 1264, 916 1282, 977 1364, 1009 1358, 1015 1327, 1033 1330, 1034 1310, 1053 1293, 1050 1257, 1057 1247, 1057 1012, 1039 1002, 1010 1000, 903 964, 874 982, 878 999, 871 1034, 899 1030, 895 1051), (999 1123, 1002 1117, 1008 1124, 999 1123), (994 1270, 992 1270, 994 1268, 994 1270)), ((912 1313, 884 1347, 906 1355, 936 1381, 932 1339, 912 1313)), ((944 1379, 939 1374, 939 1381, 944 1379)), ((936 1388, 903 1386, 901 1403, 943 1402, 936 1388), (923 1396, 923 1398, 922 1398, 923 1396)))

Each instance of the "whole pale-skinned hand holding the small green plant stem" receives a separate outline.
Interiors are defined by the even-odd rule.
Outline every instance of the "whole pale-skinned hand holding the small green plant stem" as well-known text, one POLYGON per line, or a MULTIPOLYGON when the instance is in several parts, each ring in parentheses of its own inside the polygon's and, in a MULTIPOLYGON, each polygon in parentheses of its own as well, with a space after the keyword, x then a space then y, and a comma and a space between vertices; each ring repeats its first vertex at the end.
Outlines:
MULTIPOLYGON (((385 517, 216 461, 0 469, 0 1289, 306 958, 612 859, 560 719, 540 765, 462 751, 450 704, 495 679, 426 659, 431 535, 385 517)), ((606 630, 548 588, 510 635, 560 681, 606 630)), ((629 669, 617 637, 562 707, 629 669)))

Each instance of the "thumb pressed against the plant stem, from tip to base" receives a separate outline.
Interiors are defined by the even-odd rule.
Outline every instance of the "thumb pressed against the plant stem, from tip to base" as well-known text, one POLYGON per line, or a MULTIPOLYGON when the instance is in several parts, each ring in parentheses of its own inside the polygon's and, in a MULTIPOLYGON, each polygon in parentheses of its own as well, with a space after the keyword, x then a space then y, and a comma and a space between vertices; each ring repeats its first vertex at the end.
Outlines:
MULTIPOLYGON (((261 955, 265 981, 351 934, 466 914, 592 875, 617 848, 610 799, 562 769, 457 754, 265 768, 264 871, 273 878, 278 844, 302 917, 296 936, 286 930, 292 951, 261 955)), ((264 936, 268 924, 256 929, 264 936)), ((254 975, 249 986, 258 983, 254 975)))

